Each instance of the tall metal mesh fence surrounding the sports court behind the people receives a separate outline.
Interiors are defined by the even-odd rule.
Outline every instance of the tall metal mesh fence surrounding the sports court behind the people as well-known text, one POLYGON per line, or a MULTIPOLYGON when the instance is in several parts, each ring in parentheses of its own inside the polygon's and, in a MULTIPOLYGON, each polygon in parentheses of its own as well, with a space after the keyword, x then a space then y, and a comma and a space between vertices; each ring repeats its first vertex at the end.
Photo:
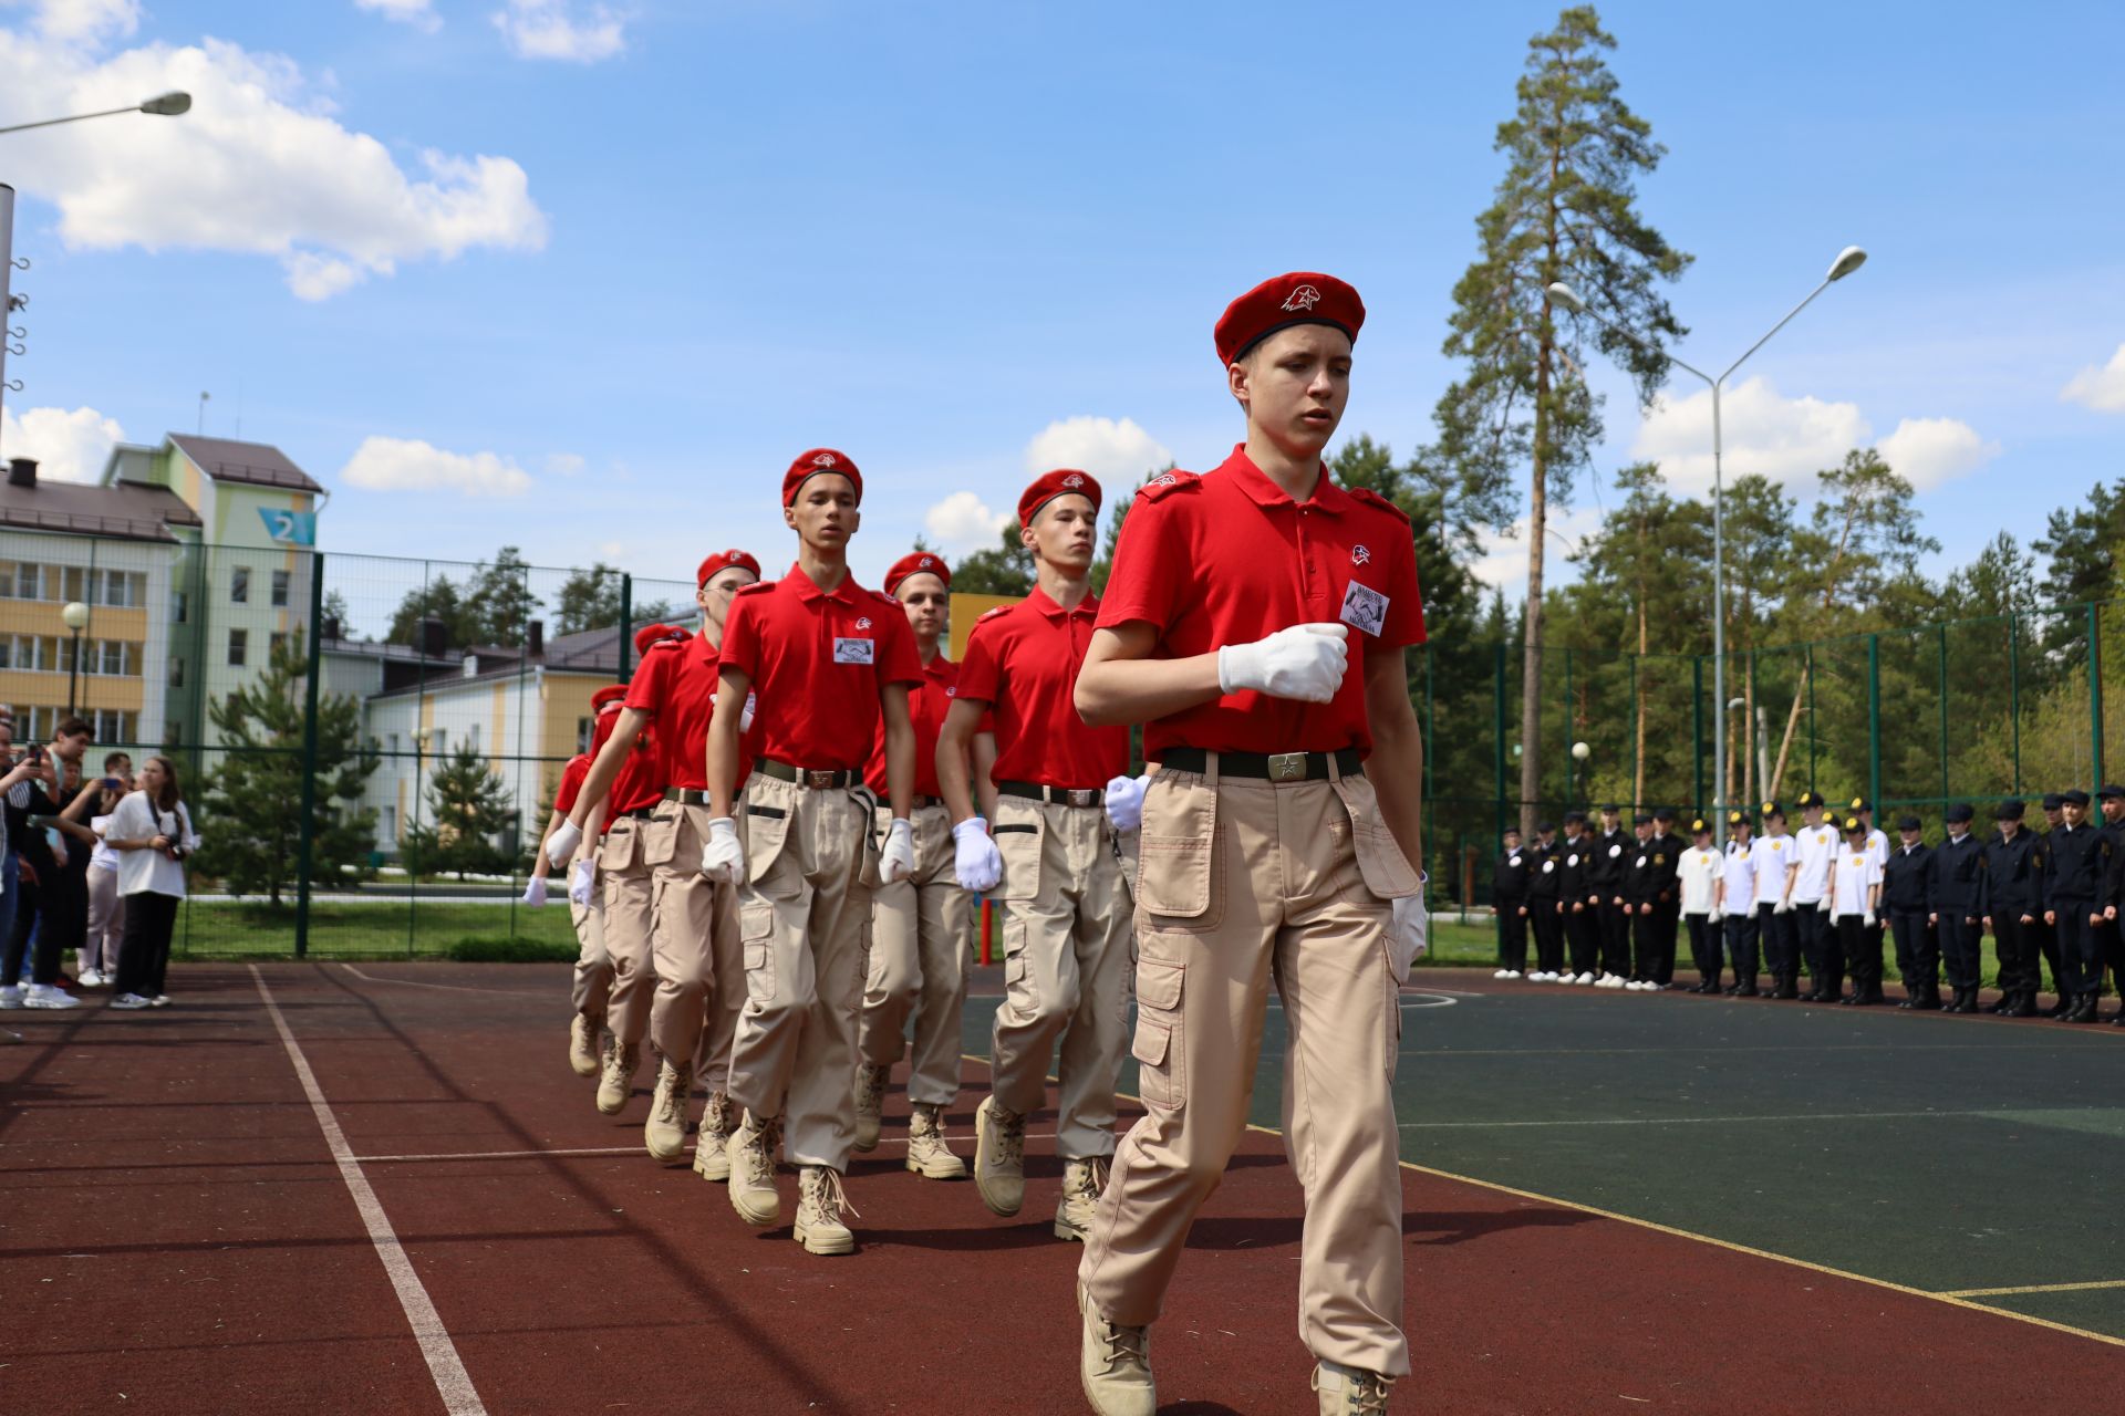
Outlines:
MULTIPOLYGON (((620 626, 693 616, 688 580, 8 529, 0 703, 19 741, 89 718, 91 775, 110 749, 174 758, 208 841, 185 955, 567 955, 565 904, 518 902, 561 766, 591 692, 631 673, 620 626)), ((2102 779, 2121 633, 2119 605, 2076 605, 1740 647, 1726 709, 1711 656, 1551 643, 1532 809, 1706 811, 1726 732, 1730 800, 1868 796, 1938 834, 1949 800, 2102 779)), ((1519 684, 1517 643, 1454 626, 1411 660, 1434 909, 1488 902, 1519 684)))

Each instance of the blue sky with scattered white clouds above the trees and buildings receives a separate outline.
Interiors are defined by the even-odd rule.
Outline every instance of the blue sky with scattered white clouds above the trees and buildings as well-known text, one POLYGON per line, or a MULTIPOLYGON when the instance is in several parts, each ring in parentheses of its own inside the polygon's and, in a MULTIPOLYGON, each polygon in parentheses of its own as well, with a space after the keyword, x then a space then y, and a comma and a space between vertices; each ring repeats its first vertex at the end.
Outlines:
MULTIPOLYGON (((1679 350, 1749 365, 1730 469, 1806 488, 1883 444, 1959 563, 2121 469, 2121 11, 1606 4, 1670 149, 1643 210, 1696 267, 1679 350), (2066 391, 2074 388, 2074 397, 2066 391)), ((688 575, 782 563, 808 446, 865 469, 858 573, 986 539, 1046 465, 1216 463, 1209 329, 1320 267, 1371 316, 1345 435, 1407 450, 1496 123, 1556 6, 0 4, 0 123, 191 87, 183 119, 0 136, 30 355, 6 452, 113 429, 278 444, 327 552, 688 575)), ((1702 408, 1609 471, 1702 480, 1702 408)), ((1679 386, 1677 395, 1689 388, 1679 386)), ((94 469, 91 469, 94 471, 94 469)), ((1566 537, 1592 522, 1585 484, 1566 537)), ((1494 548, 1511 584, 1522 554, 1494 548)))

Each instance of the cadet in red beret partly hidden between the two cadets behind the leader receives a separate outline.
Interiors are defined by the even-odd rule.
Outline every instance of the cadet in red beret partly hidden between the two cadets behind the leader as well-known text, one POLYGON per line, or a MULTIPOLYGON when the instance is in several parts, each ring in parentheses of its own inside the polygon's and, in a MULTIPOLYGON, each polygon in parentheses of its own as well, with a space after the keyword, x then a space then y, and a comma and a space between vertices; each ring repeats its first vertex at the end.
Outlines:
MULTIPOLYGON (((907 1064, 907 1170, 929 1180, 963 1180, 967 1163, 944 1138, 944 1112, 958 1098, 960 1015, 967 1006, 967 940, 973 921, 969 896, 954 877, 952 813, 937 783, 937 737, 958 694, 958 664, 944 656, 941 639, 952 603, 952 569, 926 550, 901 556, 886 571, 886 594, 907 607, 907 628, 922 660, 922 686, 907 696, 916 732, 912 815, 914 875, 871 892, 871 972, 863 985, 863 1023, 856 1032, 856 1151, 878 1149, 878 1123, 892 1064, 907 1064)), ((886 792, 886 732, 878 724, 865 783, 886 792)), ((975 783, 988 805, 988 762, 994 739, 975 737, 975 783)), ((892 822, 880 809, 878 830, 892 822)))

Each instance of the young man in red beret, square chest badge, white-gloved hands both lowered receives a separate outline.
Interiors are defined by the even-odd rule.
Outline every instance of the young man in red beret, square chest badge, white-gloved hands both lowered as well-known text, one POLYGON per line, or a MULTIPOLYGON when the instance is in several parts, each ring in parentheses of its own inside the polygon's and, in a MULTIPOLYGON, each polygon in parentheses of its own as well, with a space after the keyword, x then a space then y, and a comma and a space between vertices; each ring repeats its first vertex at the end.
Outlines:
POLYGON ((722 635, 722 690, 708 728, 708 845, 701 875, 737 885, 746 1008, 731 1053, 731 1208, 748 1225, 782 1216, 776 1144, 788 1129, 799 1165, 793 1236, 808 1253, 854 1253, 842 1223, 842 1172, 856 1138, 856 1019, 871 890, 914 875, 916 735, 910 688, 922 660, 907 614, 848 573, 863 514, 863 473, 831 448, 801 452, 782 476, 782 518, 797 565, 746 586, 722 635), (740 839, 740 715, 763 705, 759 758, 740 839), (884 847, 863 766, 884 718, 884 847))

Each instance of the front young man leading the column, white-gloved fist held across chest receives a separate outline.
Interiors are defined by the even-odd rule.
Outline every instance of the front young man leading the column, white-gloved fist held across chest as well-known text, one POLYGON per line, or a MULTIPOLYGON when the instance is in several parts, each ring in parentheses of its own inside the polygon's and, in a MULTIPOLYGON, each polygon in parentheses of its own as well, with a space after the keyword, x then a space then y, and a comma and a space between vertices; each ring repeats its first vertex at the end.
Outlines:
POLYGON ((1158 764, 1137 885, 1148 1115, 1077 1267, 1080 1378, 1105 1416, 1156 1408, 1148 1329, 1245 1125, 1271 977, 1320 1410, 1383 1412, 1409 1371, 1392 1085, 1400 979, 1424 947, 1424 743, 1402 662, 1424 609, 1409 520, 1322 463, 1362 321, 1322 274, 1232 301, 1218 359, 1247 442, 1137 495, 1077 675, 1086 722, 1145 724, 1158 764))

